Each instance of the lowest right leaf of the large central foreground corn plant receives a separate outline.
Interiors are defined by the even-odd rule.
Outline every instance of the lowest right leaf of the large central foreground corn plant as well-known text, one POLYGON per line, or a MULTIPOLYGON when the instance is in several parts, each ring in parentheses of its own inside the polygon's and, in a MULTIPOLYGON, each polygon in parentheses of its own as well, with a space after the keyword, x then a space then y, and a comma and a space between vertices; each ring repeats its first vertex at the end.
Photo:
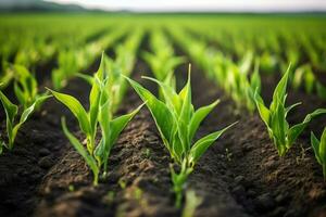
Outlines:
POLYGON ((198 140, 190 150, 189 162, 192 165, 195 165, 198 162, 198 159, 205 153, 205 151, 213 144, 213 142, 216 141, 222 133, 224 133, 227 129, 233 127, 235 124, 237 123, 234 123, 222 130, 210 133, 201 138, 200 140, 198 140))

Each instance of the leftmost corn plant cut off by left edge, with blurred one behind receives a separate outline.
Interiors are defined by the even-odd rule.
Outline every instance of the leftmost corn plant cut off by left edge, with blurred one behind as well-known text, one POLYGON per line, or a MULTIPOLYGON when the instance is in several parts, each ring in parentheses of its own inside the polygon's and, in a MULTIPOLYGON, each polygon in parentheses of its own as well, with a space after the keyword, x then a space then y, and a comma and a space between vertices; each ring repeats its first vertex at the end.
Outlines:
POLYGON ((3 148, 10 151, 14 148, 20 128, 40 107, 45 100, 49 98, 47 92, 38 93, 36 78, 24 66, 14 65, 13 67, 15 72, 14 93, 20 104, 11 102, 0 90, 0 100, 5 112, 8 136, 8 142, 0 142, 0 154, 3 148))

